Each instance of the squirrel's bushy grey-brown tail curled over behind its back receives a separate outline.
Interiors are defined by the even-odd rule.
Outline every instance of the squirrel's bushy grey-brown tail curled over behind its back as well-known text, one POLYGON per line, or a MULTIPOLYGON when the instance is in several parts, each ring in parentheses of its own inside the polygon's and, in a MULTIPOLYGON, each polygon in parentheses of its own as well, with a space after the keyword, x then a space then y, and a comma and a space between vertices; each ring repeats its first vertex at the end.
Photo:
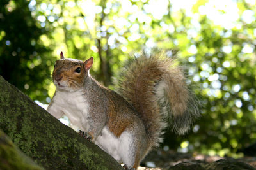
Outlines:
POLYGON ((138 111, 150 146, 162 141, 164 119, 170 119, 177 134, 184 134, 200 115, 182 69, 164 52, 144 50, 130 60, 118 77, 116 90, 138 111))

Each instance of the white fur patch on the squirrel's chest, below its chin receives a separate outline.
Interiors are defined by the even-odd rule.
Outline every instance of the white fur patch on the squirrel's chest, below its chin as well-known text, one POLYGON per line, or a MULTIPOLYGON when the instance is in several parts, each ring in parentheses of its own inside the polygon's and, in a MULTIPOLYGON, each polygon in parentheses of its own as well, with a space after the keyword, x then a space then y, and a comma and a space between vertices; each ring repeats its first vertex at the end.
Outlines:
POLYGON ((71 124, 76 125, 82 131, 88 131, 88 103, 83 92, 56 92, 54 104, 68 117, 71 124))

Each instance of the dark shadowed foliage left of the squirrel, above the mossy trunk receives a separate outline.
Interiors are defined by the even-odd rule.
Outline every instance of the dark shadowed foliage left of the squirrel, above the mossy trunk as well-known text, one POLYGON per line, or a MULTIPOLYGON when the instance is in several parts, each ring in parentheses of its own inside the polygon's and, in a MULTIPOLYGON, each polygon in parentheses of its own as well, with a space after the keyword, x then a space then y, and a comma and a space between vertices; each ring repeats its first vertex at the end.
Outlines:
POLYGON ((45 29, 36 26, 28 1, 0 3, 0 74, 32 99, 47 97, 51 56, 40 45, 45 29))

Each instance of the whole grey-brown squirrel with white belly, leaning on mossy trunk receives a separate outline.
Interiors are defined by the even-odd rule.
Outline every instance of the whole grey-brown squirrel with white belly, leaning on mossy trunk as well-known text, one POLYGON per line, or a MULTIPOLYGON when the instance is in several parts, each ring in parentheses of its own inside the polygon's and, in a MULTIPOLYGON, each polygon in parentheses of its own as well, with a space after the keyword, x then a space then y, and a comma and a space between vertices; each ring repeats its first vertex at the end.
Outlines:
POLYGON ((159 146, 163 130, 189 131, 200 117, 199 102, 184 71, 164 52, 146 52, 130 60, 116 82, 116 92, 90 75, 86 61, 56 61, 52 79, 56 92, 47 111, 66 115, 83 136, 109 153, 125 169, 137 169, 150 149, 159 146))

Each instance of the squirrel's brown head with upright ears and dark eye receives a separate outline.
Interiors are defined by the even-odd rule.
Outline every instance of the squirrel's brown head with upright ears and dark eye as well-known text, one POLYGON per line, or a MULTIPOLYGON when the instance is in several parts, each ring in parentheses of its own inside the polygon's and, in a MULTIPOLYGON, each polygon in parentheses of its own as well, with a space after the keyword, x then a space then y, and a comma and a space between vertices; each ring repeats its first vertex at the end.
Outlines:
POLYGON ((65 59, 63 52, 60 53, 52 73, 53 83, 58 90, 76 91, 84 85, 84 80, 89 76, 93 64, 93 57, 86 61, 65 59))

